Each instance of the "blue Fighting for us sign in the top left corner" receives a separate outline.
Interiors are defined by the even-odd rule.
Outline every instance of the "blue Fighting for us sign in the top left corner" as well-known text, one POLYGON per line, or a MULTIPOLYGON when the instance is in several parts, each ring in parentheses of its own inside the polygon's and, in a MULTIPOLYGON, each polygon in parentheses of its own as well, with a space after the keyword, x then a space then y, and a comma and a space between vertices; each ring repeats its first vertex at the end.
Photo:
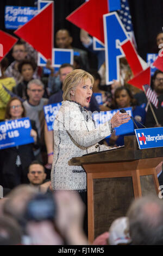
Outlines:
POLYGON ((37 7, 5 6, 4 22, 6 29, 17 29, 26 24, 38 13, 37 7))

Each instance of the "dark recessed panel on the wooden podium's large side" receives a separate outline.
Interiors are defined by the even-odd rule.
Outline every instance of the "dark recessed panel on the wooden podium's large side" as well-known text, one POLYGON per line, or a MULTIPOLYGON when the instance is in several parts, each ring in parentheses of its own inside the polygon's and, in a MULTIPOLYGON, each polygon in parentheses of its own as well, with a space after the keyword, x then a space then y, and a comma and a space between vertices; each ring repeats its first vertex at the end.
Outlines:
POLYGON ((134 200, 131 177, 93 179, 94 235, 95 238, 109 230, 118 217, 126 216, 134 200))

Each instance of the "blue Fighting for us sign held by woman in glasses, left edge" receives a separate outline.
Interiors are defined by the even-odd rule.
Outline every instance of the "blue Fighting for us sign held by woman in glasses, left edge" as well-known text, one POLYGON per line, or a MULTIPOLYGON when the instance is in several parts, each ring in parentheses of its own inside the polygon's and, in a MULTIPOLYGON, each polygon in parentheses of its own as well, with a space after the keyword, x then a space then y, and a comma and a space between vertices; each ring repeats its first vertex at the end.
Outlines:
POLYGON ((0 149, 16 147, 34 142, 30 136, 29 118, 14 119, 0 123, 0 149))

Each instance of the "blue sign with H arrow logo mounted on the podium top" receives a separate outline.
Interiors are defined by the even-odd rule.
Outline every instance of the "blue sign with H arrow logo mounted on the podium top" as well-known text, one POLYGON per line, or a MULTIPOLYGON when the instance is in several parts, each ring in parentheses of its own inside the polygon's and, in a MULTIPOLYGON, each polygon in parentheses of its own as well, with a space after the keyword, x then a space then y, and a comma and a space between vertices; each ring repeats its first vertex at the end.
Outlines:
POLYGON ((140 149, 163 147, 163 127, 135 129, 140 149))

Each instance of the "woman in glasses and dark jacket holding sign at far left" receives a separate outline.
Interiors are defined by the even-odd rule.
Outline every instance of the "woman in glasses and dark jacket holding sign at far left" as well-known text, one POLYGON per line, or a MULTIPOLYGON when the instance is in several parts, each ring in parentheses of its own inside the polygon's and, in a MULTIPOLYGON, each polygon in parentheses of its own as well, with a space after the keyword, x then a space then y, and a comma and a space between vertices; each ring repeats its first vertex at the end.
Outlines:
MULTIPOLYGON (((22 102, 13 97, 7 105, 5 120, 15 120, 26 117, 26 111, 22 102)), ((34 144, 25 144, 1 150, 2 173, 4 186, 14 188, 22 183, 28 183, 28 166, 34 160, 33 147, 38 148, 35 122, 31 120, 32 130, 30 136, 34 138, 34 144)))

